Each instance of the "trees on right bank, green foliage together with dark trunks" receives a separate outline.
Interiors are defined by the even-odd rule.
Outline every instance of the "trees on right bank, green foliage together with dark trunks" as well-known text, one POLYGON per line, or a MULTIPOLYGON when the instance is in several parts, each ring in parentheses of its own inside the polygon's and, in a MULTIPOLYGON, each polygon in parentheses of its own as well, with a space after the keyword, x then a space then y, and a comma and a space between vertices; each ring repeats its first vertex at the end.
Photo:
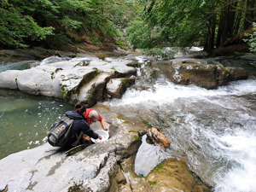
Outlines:
MULTIPOLYGON (((255 20, 255 0, 138 0, 144 6, 143 14, 128 28, 127 34, 135 41, 150 37, 137 47, 191 46, 200 41, 208 52, 214 47, 232 44, 236 35, 252 26, 255 20), (142 29, 138 27, 138 20, 142 29), (136 27, 133 27, 137 26, 136 27), (150 42, 150 43, 148 43, 150 42)), ((149 47, 148 47, 149 48, 149 47)))

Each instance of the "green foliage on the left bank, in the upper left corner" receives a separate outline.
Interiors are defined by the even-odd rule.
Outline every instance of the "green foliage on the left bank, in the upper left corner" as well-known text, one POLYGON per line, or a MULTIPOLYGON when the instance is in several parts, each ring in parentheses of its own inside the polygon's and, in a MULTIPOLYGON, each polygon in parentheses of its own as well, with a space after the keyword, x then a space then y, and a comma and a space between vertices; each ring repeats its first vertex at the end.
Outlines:
MULTIPOLYGON (((0 46, 27 47, 32 41, 73 38, 67 32, 90 36, 101 46, 105 37, 121 37, 111 19, 125 0, 1 0, 0 46), (97 33, 100 37, 93 35, 97 33)), ((123 5, 124 3, 124 5, 123 5)), ((133 4, 133 3, 132 3, 133 4)), ((115 16, 114 16, 115 15, 115 16)), ((123 20, 119 18, 119 20, 123 20)), ((82 38, 81 38, 82 39, 82 38)), ((49 43, 47 43, 49 44, 49 43)))

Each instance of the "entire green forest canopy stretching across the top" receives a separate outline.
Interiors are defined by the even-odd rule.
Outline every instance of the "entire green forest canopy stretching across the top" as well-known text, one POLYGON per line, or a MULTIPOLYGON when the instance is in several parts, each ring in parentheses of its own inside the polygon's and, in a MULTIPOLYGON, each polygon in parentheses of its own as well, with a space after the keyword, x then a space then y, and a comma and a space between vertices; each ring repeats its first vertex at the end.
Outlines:
POLYGON ((201 45, 210 52, 242 44, 241 34, 255 22, 254 5, 255 0, 1 0, 0 47, 101 46, 122 37, 134 49, 201 45))

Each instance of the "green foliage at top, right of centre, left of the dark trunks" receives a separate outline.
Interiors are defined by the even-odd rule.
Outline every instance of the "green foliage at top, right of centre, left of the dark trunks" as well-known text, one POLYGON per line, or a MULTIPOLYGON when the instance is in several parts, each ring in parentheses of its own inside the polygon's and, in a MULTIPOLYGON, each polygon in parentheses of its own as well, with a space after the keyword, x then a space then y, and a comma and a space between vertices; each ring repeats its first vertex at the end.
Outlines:
POLYGON ((140 1, 143 14, 127 28, 128 39, 135 48, 150 49, 157 46, 193 45, 206 29, 205 22, 198 22, 203 15, 202 1, 140 1))

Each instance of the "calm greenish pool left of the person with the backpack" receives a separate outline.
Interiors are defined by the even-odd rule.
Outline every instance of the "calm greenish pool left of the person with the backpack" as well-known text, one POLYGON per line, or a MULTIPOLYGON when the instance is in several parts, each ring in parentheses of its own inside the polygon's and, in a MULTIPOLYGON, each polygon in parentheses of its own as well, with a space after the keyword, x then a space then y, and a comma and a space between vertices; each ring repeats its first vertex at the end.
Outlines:
POLYGON ((60 100, 0 90, 0 159, 46 143, 50 126, 67 110, 73 107, 60 100))

